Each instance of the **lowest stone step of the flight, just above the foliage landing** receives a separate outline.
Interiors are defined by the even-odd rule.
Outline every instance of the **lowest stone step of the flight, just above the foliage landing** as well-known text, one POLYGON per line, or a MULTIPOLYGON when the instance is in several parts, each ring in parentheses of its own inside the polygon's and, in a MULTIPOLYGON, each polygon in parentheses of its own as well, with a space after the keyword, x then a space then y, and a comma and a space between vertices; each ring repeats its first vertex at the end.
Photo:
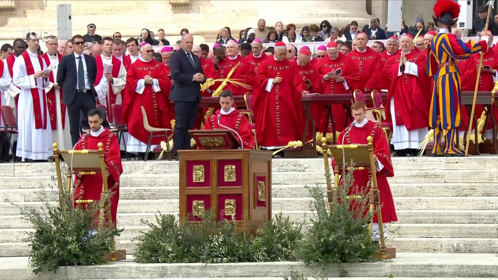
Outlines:
MULTIPOLYGON (((121 240, 116 243, 116 248, 126 250, 126 254, 133 254, 137 243, 121 240)), ((387 240, 387 246, 404 253, 496 254, 498 238, 394 238, 387 240)), ((0 257, 29 256, 30 250, 27 243, 0 243, 0 257)))

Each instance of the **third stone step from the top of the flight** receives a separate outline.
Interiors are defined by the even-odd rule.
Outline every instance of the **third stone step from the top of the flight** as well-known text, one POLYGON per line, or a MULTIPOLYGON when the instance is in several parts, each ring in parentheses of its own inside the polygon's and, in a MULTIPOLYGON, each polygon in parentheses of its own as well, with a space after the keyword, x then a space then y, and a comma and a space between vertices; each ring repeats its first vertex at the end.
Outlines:
MULTIPOLYGON (((324 192, 326 185, 321 185, 324 192)), ((272 185, 274 198, 309 197, 303 185, 272 185)), ((120 187, 120 200, 178 199, 178 186, 120 187)), ((498 196, 498 183, 393 183, 393 196, 498 196)), ((0 202, 55 201, 57 188, 0 189, 0 202)))

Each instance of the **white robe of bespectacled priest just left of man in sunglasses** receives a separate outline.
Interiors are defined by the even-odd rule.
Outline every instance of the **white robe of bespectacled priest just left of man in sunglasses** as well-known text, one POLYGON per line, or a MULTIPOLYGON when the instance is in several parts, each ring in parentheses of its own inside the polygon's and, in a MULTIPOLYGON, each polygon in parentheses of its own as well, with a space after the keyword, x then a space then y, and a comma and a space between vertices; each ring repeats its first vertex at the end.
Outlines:
MULTIPOLYGON (((50 60, 49 67, 50 69, 52 69, 55 81, 57 79, 57 69, 59 69, 59 57, 57 55, 54 56, 49 54, 48 58, 50 60)), ((53 86, 54 84, 49 81, 48 86, 45 88, 45 92, 48 93, 53 86)), ((64 129, 62 129, 62 109, 61 109, 61 100, 60 100, 61 94, 62 92, 60 90, 55 89, 55 104, 57 107, 56 107, 56 116, 54 116, 54 118, 57 120, 57 129, 52 130, 52 141, 59 144, 60 150, 70 150, 73 148, 73 143, 71 140, 69 115, 67 114, 67 108, 66 108, 66 115, 64 116, 65 119, 64 129)))

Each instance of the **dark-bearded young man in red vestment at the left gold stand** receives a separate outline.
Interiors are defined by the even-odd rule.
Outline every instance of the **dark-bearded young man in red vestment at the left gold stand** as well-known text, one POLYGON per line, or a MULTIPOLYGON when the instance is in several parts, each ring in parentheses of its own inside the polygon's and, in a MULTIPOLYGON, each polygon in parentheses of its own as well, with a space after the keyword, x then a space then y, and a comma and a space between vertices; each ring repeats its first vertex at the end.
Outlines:
MULTIPOLYGON (((111 217, 116 227, 116 213, 118 212, 118 202, 120 200, 120 176, 123 173, 121 164, 120 144, 114 133, 102 126, 102 115, 98 109, 88 111, 88 125, 90 131, 83 135, 76 144, 76 150, 98 150, 98 144, 104 146, 104 161, 109 167, 107 177, 107 187, 111 196, 111 217)), ((94 200, 100 201, 102 193, 102 174, 76 176, 76 189, 73 193, 74 200, 94 200)))

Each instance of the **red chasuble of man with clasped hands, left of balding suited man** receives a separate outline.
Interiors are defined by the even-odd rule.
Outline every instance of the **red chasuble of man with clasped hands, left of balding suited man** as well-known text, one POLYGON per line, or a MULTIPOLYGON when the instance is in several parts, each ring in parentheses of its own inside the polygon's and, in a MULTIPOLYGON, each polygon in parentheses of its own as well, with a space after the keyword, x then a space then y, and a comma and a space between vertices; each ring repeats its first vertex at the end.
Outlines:
MULTIPOLYGON (((128 125, 128 133, 143 143, 149 140, 149 133, 143 128, 143 117, 140 106, 143 106, 147 114, 150 126, 155 128, 171 129, 171 120, 174 118, 174 109, 169 104, 169 92, 171 82, 166 75, 163 63, 150 60, 144 62, 137 59, 130 65, 126 74, 126 88, 123 99, 123 119, 128 125), (155 92, 152 85, 145 84, 141 94, 136 92, 136 85, 145 76, 157 79, 160 91, 155 92)), ((165 138, 152 138, 151 144, 159 144, 165 138)))

